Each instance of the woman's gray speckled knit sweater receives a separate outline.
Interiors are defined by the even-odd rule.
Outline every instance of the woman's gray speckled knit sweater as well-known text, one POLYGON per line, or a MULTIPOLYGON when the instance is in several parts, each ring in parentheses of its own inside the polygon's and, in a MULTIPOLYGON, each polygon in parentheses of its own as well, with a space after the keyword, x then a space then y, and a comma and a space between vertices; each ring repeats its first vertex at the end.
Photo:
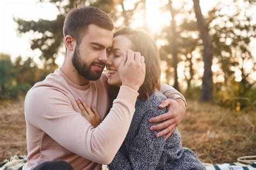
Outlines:
POLYGON ((165 99, 159 91, 145 101, 137 99, 131 126, 110 169, 205 169, 196 154, 181 146, 177 129, 166 141, 156 138, 159 131, 149 130, 149 119, 166 113, 158 107, 165 99))

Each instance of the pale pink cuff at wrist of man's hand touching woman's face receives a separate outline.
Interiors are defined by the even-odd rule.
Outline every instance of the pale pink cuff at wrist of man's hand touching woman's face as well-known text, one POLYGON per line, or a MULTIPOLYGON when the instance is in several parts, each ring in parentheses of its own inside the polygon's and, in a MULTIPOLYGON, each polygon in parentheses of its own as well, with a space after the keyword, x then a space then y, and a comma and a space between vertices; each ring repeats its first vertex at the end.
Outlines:
POLYGON ((117 99, 122 99, 130 103, 132 106, 135 106, 137 97, 139 93, 128 86, 120 86, 117 99))

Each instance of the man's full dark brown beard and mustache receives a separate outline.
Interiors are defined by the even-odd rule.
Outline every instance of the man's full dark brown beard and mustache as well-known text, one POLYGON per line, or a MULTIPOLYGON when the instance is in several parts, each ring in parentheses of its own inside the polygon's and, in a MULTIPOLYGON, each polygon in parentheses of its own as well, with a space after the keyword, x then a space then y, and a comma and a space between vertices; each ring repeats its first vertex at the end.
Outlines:
POLYGON ((100 78, 100 75, 102 74, 103 69, 102 71, 92 71, 91 66, 93 64, 105 66, 103 62, 92 62, 89 64, 83 63, 79 55, 78 46, 76 46, 75 52, 73 54, 72 64, 81 76, 83 76, 87 80, 92 80, 92 81, 95 81, 100 78))

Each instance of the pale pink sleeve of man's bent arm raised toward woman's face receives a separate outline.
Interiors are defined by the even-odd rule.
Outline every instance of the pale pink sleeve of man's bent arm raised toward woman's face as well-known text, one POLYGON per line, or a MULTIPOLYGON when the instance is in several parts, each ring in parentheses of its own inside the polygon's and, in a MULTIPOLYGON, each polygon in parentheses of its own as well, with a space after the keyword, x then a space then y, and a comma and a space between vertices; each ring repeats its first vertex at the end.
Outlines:
POLYGON ((25 118, 69 151, 99 164, 109 164, 129 130, 138 92, 121 86, 109 114, 96 128, 77 113, 66 93, 37 87, 25 99, 25 118))

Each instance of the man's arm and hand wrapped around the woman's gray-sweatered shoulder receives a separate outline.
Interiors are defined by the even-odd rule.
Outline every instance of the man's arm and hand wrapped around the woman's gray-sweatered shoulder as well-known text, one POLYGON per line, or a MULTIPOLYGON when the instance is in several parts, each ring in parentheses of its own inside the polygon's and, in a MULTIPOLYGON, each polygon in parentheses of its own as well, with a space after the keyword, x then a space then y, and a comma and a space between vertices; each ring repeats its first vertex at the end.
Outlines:
POLYGON ((163 123, 151 126, 150 130, 162 130, 157 133, 156 137, 165 135, 165 139, 167 139, 181 122, 186 112, 187 104, 184 96, 172 86, 162 84, 161 93, 163 93, 168 99, 164 100, 159 107, 167 107, 167 113, 151 118, 149 120, 151 123, 157 123, 159 121, 163 121, 163 123))

